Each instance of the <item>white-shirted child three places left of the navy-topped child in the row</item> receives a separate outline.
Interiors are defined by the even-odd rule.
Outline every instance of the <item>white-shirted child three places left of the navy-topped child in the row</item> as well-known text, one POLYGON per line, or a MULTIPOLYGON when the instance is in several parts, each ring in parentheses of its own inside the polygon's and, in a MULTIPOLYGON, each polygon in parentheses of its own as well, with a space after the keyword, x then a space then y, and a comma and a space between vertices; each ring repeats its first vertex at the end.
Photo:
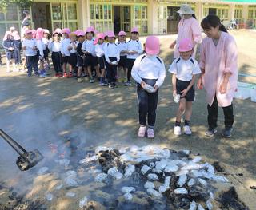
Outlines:
POLYGON ((61 53, 61 34, 60 31, 54 31, 52 42, 49 42, 51 60, 53 61, 55 77, 62 77, 62 53, 61 53))

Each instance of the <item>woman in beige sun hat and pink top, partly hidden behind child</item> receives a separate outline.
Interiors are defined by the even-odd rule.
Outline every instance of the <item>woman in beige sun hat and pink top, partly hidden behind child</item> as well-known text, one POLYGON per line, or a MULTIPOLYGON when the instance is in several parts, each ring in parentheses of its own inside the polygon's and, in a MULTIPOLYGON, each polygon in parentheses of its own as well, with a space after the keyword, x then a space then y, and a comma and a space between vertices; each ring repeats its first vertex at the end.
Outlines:
POLYGON ((201 41, 202 38, 201 27, 199 26, 199 23, 194 16, 194 11, 189 5, 182 4, 181 8, 177 12, 180 14, 182 19, 178 23, 178 37, 174 42, 170 44, 170 48, 174 49, 174 46, 176 46, 174 50, 174 58, 178 58, 178 43, 183 38, 189 38, 194 46, 194 57, 196 54, 196 45, 201 41))

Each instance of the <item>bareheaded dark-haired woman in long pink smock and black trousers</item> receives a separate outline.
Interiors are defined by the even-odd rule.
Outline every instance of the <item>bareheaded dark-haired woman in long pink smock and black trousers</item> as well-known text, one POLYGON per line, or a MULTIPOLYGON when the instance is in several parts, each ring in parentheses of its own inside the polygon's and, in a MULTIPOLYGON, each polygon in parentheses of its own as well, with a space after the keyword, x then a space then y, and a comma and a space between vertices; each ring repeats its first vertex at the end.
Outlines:
POLYGON ((206 89, 208 109, 208 130, 206 136, 217 133, 218 106, 225 117, 223 137, 231 137, 234 124, 233 97, 238 82, 238 51, 234 38, 226 33, 218 16, 209 14, 201 22, 207 37, 200 47, 200 68, 202 77, 198 89, 206 89))

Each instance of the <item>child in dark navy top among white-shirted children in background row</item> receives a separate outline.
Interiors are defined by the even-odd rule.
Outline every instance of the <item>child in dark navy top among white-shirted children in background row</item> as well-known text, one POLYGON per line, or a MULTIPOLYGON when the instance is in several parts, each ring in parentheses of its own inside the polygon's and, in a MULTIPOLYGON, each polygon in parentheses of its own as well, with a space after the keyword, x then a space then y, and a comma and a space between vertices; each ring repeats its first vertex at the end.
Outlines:
POLYGON ((82 70, 84 69, 84 53, 82 52, 82 43, 85 41, 85 33, 80 30, 78 33, 77 46, 77 65, 78 65, 78 83, 82 82, 82 70))

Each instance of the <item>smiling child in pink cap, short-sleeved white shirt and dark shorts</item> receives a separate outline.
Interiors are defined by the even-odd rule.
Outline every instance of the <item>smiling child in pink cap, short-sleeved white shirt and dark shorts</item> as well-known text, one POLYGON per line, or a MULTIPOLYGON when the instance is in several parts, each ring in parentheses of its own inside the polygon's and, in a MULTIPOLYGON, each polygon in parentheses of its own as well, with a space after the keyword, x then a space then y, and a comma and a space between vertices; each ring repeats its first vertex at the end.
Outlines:
POLYGON ((193 44, 189 38, 183 38, 178 43, 180 56, 170 65, 172 73, 174 101, 179 102, 174 125, 174 134, 181 135, 182 114, 185 115, 184 133, 191 135, 190 117, 192 115, 192 101, 194 101, 194 81, 197 74, 201 73, 198 61, 192 57, 193 44))

